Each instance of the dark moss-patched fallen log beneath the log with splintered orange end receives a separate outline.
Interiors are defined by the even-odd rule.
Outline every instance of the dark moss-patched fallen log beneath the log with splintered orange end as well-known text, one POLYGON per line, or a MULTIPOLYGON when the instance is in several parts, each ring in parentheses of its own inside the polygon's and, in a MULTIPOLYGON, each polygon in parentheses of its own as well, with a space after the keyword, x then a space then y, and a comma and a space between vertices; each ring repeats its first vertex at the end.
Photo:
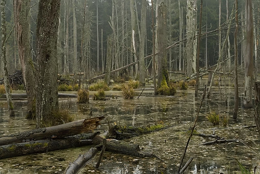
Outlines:
POLYGON ((82 133, 62 139, 44 139, 29 141, 18 144, 8 144, 0 146, 0 159, 19 155, 44 153, 52 150, 68 149, 92 144, 92 139, 98 134, 82 133))

